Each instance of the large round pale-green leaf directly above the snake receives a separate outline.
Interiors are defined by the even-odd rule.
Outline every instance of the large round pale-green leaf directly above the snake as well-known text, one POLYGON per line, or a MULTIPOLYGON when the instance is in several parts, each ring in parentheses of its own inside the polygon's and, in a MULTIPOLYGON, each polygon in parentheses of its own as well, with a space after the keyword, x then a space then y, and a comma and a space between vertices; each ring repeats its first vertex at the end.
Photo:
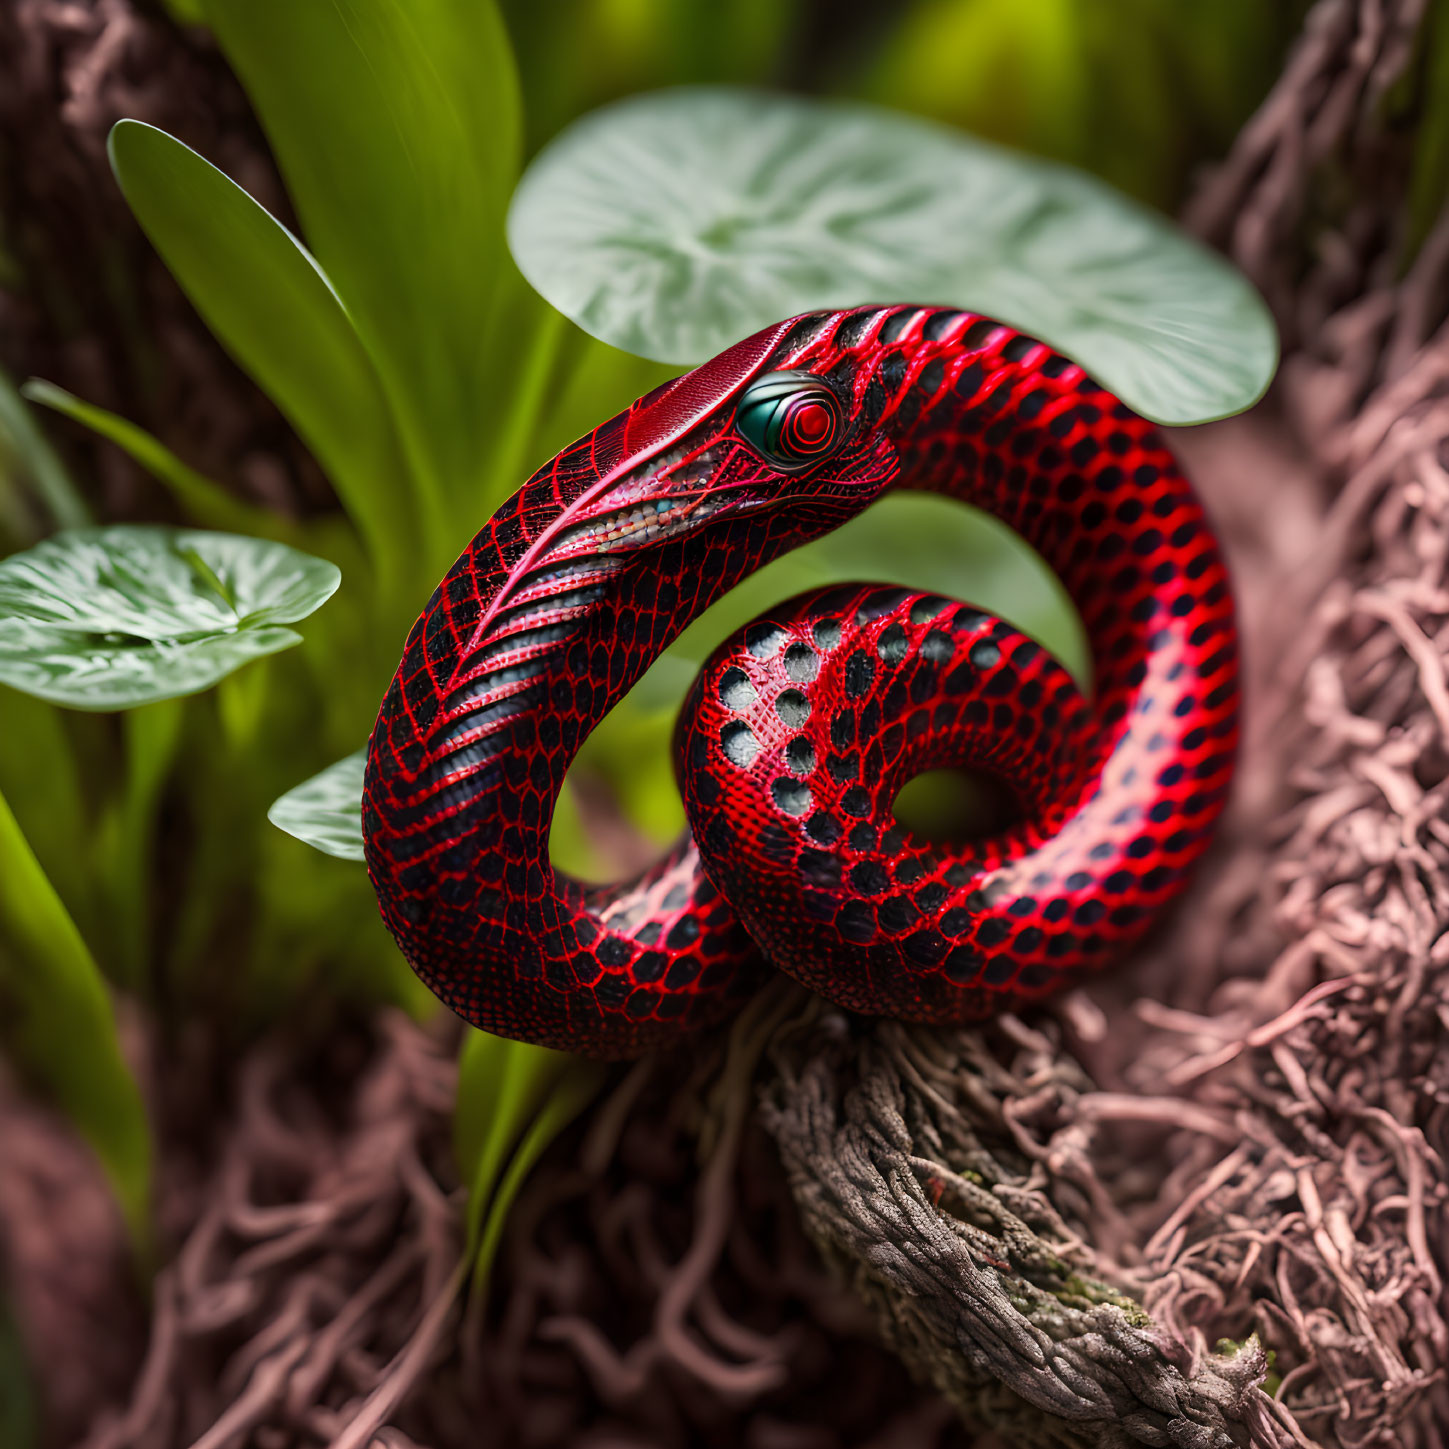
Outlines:
POLYGON ((1049 342, 1137 412, 1249 407, 1278 343, 1226 261, 1098 181, 895 112, 726 87, 565 130, 509 213, 529 281, 587 332, 700 362, 798 312, 917 301, 1049 342))

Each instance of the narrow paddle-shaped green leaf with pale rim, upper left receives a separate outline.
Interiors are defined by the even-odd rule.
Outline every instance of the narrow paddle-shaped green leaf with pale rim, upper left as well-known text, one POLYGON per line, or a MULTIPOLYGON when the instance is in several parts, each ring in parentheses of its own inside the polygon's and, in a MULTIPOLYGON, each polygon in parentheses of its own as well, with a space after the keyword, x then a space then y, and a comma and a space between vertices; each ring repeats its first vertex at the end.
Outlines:
POLYGON ((117 122, 110 162, 162 261, 296 425, 374 555, 404 549, 413 536, 406 467, 387 398, 307 249, 235 181, 155 126, 117 122))

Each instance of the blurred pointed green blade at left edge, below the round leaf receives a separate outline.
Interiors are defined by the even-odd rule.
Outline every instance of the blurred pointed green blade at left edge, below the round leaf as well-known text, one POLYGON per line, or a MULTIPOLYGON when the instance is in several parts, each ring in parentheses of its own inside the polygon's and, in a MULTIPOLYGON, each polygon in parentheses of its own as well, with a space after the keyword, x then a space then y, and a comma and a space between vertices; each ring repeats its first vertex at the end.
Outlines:
POLYGON ((145 1245, 151 1132, 96 961, 0 796, 0 1022, 6 1043, 94 1148, 145 1245))

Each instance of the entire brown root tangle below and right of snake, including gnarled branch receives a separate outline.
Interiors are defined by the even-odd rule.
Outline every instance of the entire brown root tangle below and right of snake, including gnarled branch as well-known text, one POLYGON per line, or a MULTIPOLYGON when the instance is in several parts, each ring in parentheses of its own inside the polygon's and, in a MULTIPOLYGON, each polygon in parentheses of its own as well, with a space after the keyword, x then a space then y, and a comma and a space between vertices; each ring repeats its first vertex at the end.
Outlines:
POLYGON ((1271 406, 1179 439, 1248 736, 1130 969, 953 1033, 764 997, 545 1159, 483 1321, 451 1043, 268 1043, 212 1140, 171 1142, 130 1385, 129 1300, 104 1253, 68 1264, 64 1213, 17 1230, 55 1178, 10 1135, 0 1261, 54 1424, 84 1392, 94 1449, 914 1449, 965 1443, 956 1413, 978 1445, 1449 1440, 1449 219, 1411 259, 1400 220, 1426 10, 1319 0, 1190 216, 1285 362, 1271 406))

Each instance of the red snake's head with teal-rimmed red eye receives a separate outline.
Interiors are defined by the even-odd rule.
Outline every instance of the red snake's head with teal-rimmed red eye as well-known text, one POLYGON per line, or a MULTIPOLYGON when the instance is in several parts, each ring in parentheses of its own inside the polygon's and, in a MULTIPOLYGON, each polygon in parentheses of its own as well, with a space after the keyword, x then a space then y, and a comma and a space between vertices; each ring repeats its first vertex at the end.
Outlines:
POLYGON ((891 443, 849 381, 781 365, 832 316, 746 338, 598 429, 590 456, 604 467, 561 514, 552 558, 629 555, 765 510, 833 526, 869 503, 895 475, 891 443))

